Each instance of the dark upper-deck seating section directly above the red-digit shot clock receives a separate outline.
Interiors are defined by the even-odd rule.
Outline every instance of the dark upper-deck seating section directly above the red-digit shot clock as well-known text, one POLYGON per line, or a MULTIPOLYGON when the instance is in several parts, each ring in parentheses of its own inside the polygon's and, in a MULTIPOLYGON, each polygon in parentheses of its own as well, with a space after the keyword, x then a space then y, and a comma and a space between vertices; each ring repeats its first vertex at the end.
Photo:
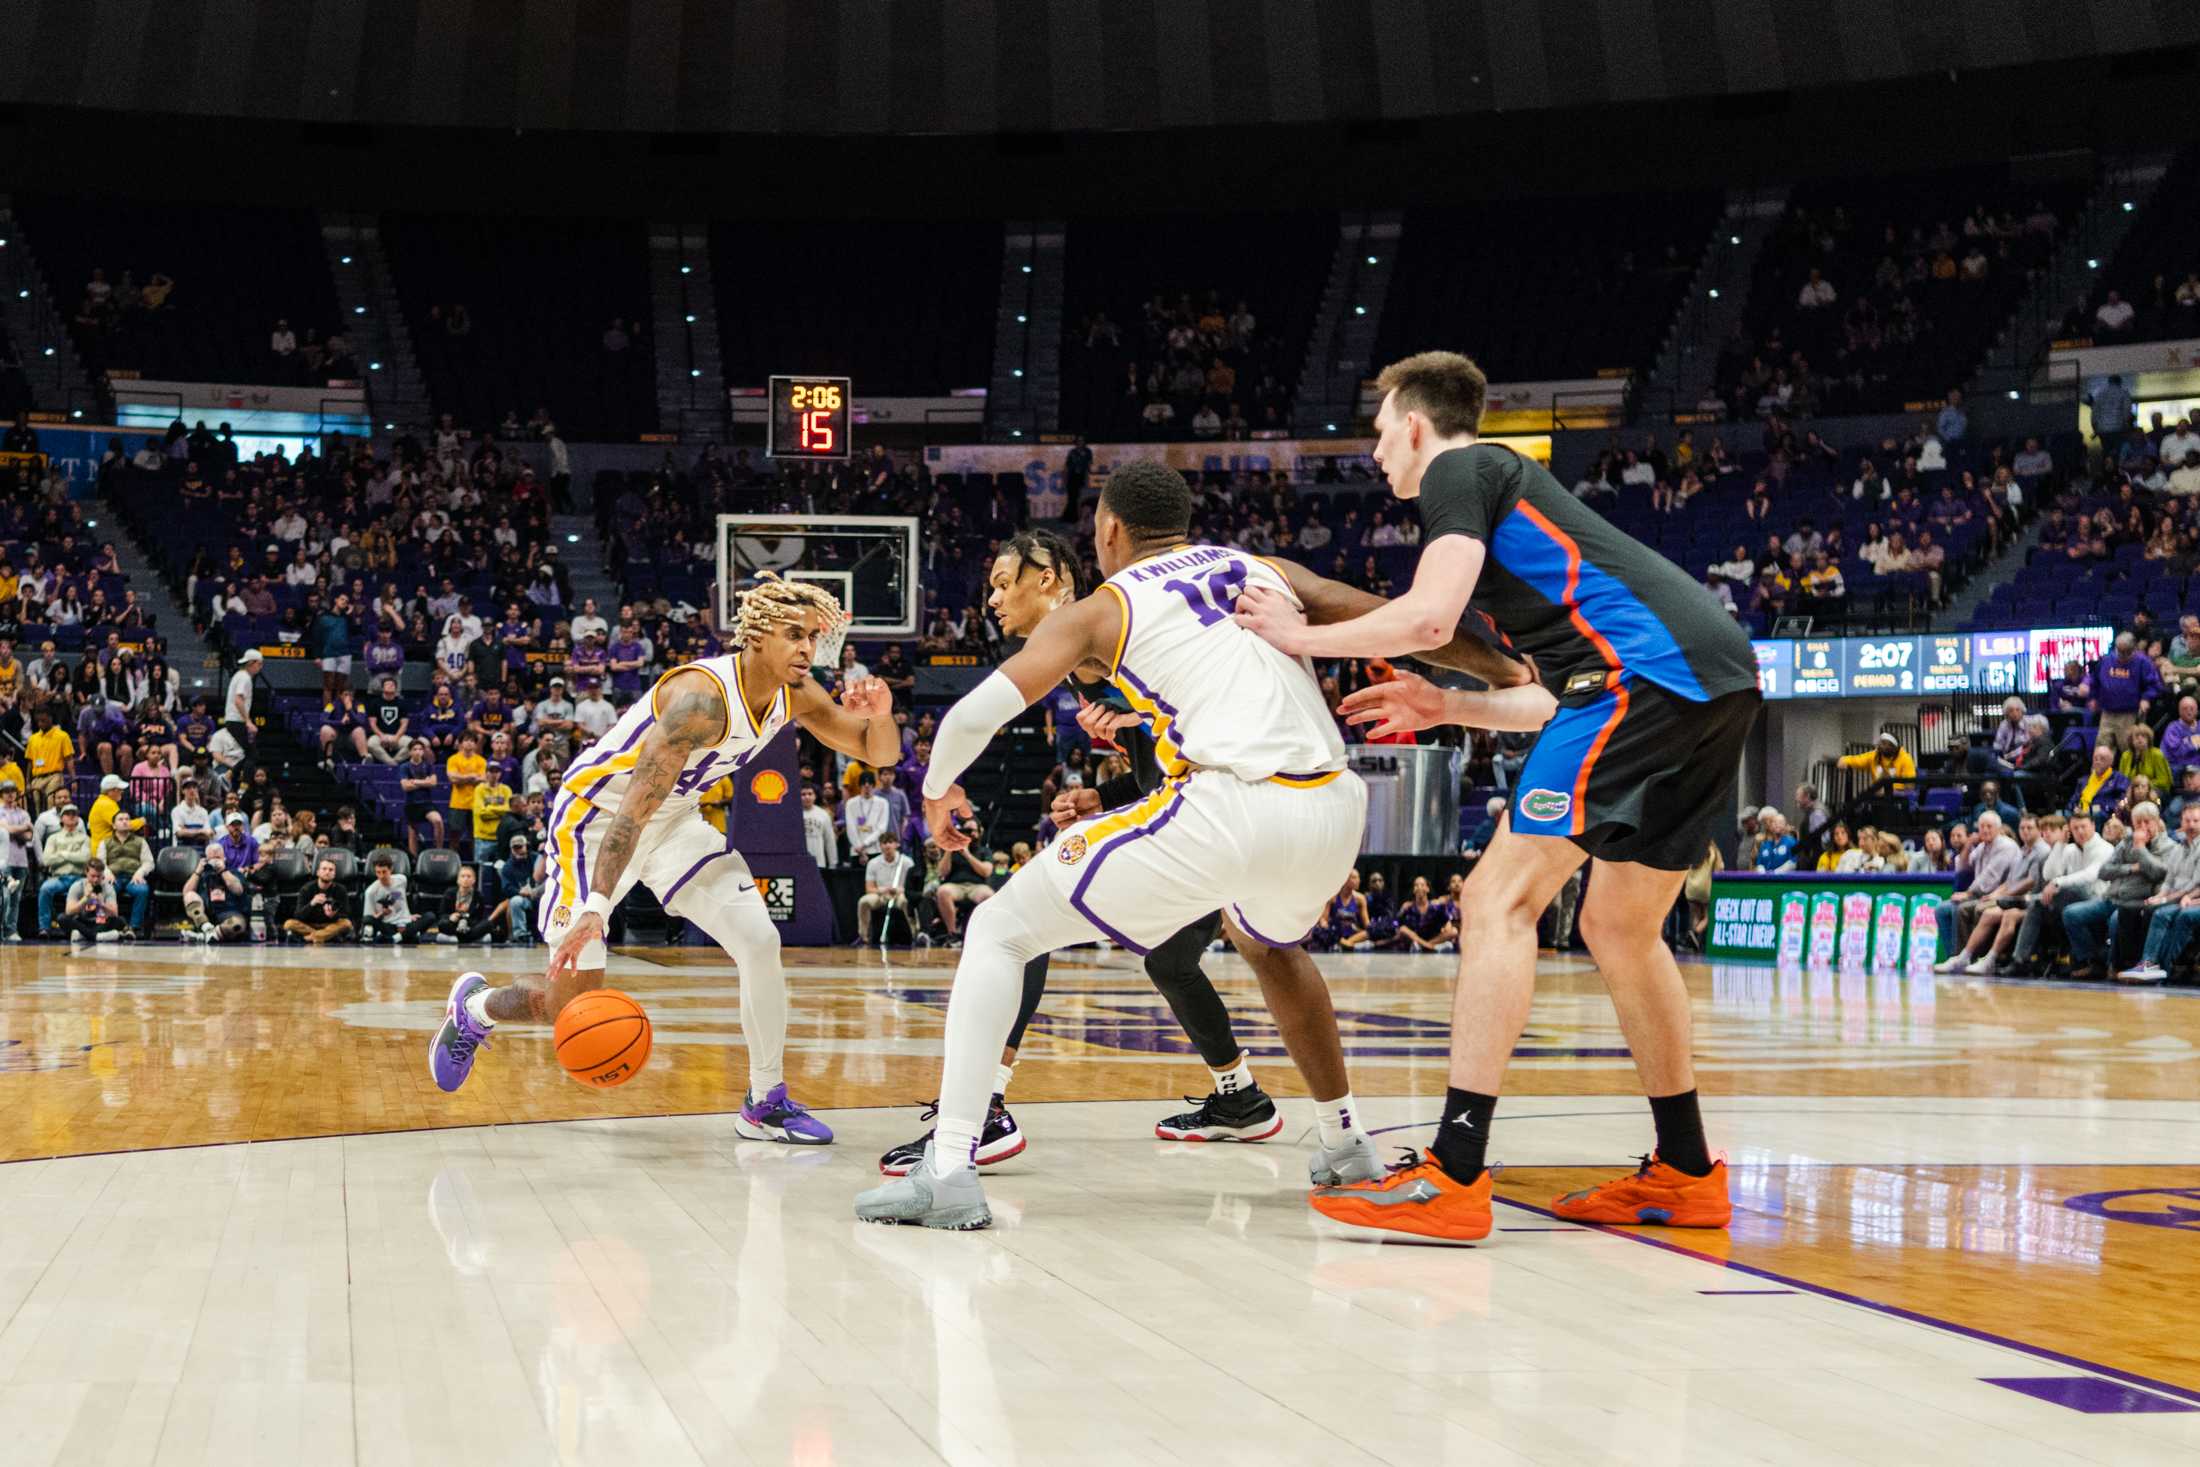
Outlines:
POLYGON ((997 222, 719 220, 711 275, 728 387, 821 372, 873 398, 939 396, 992 374, 997 222), (790 288, 792 273, 832 288, 790 288))

